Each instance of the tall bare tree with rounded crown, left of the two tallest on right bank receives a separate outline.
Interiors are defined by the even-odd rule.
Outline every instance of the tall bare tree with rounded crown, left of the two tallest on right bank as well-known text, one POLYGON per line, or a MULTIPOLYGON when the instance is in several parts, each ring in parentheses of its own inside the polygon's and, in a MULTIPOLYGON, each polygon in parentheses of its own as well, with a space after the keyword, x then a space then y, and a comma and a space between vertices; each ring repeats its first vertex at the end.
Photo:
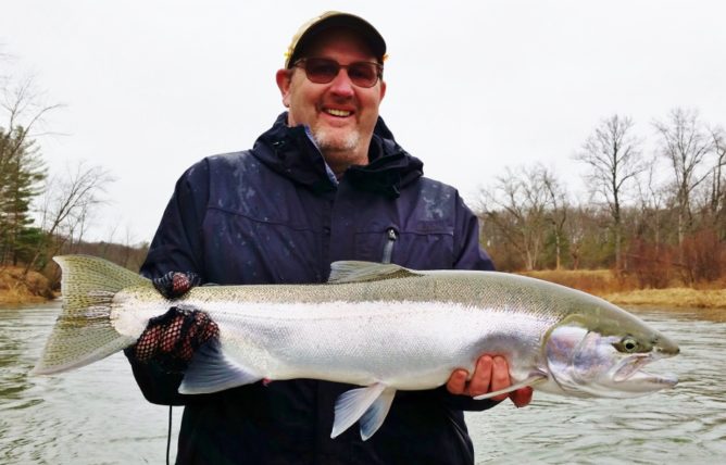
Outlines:
POLYGON ((623 261, 623 202, 628 188, 646 168, 641 159, 640 141, 633 134, 633 121, 613 115, 603 120, 575 155, 586 163, 586 175, 593 196, 604 200, 612 218, 615 246, 615 268, 624 268, 623 261))

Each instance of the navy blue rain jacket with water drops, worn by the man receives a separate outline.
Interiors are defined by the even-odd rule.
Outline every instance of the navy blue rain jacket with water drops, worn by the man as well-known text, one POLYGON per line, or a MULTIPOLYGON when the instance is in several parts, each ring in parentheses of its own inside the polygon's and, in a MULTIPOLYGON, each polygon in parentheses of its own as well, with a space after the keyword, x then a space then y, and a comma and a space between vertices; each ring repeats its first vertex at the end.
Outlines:
MULTIPOLYGON (((476 217, 450 186, 378 120, 370 164, 336 180, 308 129, 281 114, 252 150, 210 156, 178 180, 141 268, 192 271, 220 285, 326 281, 337 260, 417 269, 492 269, 476 217)), ((127 351, 145 397, 184 404, 177 463, 473 463, 463 410, 496 404, 446 389, 399 391, 367 441, 358 425, 330 439, 336 398, 349 385, 298 379, 204 395, 127 351)))

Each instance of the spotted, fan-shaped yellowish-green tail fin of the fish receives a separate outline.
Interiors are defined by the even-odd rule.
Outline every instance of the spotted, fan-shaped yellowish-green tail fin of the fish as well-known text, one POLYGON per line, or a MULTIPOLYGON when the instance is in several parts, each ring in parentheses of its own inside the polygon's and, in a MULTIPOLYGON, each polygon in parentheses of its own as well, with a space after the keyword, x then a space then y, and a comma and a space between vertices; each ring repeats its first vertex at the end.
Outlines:
POLYGON ((135 338, 114 329, 112 300, 126 287, 149 285, 149 279, 96 256, 63 255, 53 260, 62 271, 63 310, 33 375, 88 365, 134 343, 135 338))

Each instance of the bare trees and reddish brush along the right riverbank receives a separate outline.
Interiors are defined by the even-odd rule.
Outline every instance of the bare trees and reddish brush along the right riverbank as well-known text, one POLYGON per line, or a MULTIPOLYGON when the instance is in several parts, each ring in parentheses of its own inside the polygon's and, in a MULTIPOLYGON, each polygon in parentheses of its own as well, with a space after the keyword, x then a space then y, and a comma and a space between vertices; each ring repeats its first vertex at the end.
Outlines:
POLYGON ((693 109, 651 123, 602 120, 573 154, 586 194, 552 169, 508 168, 481 189, 481 241, 502 271, 612 268, 641 287, 726 273, 726 131, 693 109))

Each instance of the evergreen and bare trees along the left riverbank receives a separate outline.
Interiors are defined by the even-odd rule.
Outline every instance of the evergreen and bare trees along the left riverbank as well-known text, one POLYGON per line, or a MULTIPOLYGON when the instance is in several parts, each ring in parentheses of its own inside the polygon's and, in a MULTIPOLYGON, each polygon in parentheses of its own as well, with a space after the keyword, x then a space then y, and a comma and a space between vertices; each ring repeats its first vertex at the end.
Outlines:
MULTIPOLYGON (((48 168, 38 140, 51 135, 46 116, 61 105, 43 104, 32 78, 0 75, 0 269, 43 271, 60 253, 92 253, 138 267, 143 244, 84 240, 93 212, 105 202, 111 174, 85 162, 68 164, 63 173, 48 168)), ((47 275, 55 278, 50 268, 47 275)))

